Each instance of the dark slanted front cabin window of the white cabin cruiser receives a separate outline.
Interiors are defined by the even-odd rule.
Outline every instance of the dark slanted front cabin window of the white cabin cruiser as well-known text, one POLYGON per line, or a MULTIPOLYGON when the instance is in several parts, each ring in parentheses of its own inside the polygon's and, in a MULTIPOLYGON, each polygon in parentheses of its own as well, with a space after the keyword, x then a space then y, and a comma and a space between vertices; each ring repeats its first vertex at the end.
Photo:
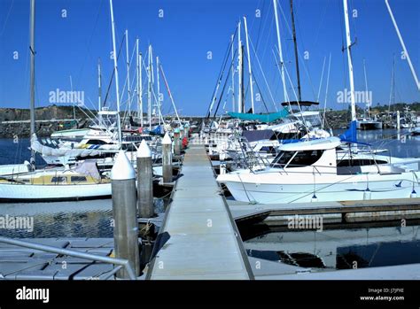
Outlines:
POLYGON ((323 156, 323 150, 317 151, 281 151, 273 160, 271 167, 312 166, 323 156))

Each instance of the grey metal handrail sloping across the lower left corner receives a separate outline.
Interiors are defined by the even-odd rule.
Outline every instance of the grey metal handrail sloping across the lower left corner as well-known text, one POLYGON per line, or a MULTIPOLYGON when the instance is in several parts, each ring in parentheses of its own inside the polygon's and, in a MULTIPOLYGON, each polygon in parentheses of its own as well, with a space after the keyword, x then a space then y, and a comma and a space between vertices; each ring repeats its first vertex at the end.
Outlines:
POLYGON ((90 254, 90 253, 80 252, 80 251, 72 251, 72 250, 52 247, 52 246, 48 246, 48 245, 44 245, 40 243, 24 242, 21 240, 6 238, 2 236, 0 236, 0 243, 9 243, 9 244, 17 245, 20 247, 25 247, 25 248, 35 249, 35 250, 45 251, 45 252, 51 252, 51 253, 57 253, 57 254, 66 255, 69 257, 74 257, 74 258, 79 258, 79 259, 89 259, 89 260, 99 261, 99 262, 103 262, 107 264, 120 265, 121 267, 125 267, 130 280, 136 280, 136 274, 134 273, 133 268, 129 264, 128 259, 102 257, 96 254, 90 254))

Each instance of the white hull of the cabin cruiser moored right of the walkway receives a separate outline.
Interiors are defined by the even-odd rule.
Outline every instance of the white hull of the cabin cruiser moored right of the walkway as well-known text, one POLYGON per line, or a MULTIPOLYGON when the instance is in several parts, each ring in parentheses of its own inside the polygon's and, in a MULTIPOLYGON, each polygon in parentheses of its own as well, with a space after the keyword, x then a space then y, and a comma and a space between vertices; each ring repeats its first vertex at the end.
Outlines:
MULTIPOLYGON (((419 177, 420 173, 416 172, 416 175, 419 177)), ((258 180, 246 182, 243 179, 246 178, 244 176, 240 176, 242 182, 239 181, 237 175, 233 174, 222 175, 218 181, 226 184, 229 192, 237 201, 259 204, 408 198, 413 191, 412 173, 380 175, 380 181, 375 181, 374 175, 369 175, 369 185, 366 175, 337 175, 331 177, 331 182, 325 183, 299 183, 299 180, 293 181, 290 175, 285 176, 283 182, 278 181, 277 183, 261 183, 258 180), (287 180, 288 178, 289 180, 287 180)), ((309 176, 313 178, 312 174, 307 174, 301 175, 300 179, 309 176)), ((419 191, 417 182, 415 182, 414 188, 419 191)))

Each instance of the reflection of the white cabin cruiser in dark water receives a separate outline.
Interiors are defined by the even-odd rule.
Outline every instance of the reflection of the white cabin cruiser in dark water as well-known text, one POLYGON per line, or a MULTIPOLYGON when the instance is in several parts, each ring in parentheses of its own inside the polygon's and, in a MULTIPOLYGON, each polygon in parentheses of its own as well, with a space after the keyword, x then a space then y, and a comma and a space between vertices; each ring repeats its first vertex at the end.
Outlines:
POLYGON ((354 261, 359 268, 420 263, 413 254, 419 242, 414 227, 386 227, 272 232, 244 245, 253 257, 331 270, 352 268, 354 261))

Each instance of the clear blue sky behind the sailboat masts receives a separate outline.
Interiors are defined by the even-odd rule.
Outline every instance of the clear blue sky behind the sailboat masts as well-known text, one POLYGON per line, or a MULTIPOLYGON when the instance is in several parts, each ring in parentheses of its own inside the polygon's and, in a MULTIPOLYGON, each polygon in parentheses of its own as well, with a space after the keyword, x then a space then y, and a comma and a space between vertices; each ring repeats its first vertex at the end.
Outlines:
MULTIPOLYGON (((279 1, 280 24, 284 59, 287 71, 296 84, 292 35, 289 32, 289 1, 279 1)), ((420 93, 408 68, 401 59, 401 44, 383 0, 349 0, 357 18, 351 17, 352 37, 357 36, 353 49, 356 90, 364 90, 363 58, 366 60, 369 90, 373 104, 388 104, 396 55, 396 101, 419 102, 420 93)), ((417 0, 390 0, 394 16, 406 42, 408 52, 420 75, 420 2, 417 0)), ((214 84, 222 66, 224 52, 237 21, 248 19, 250 37, 256 46, 258 58, 266 75, 271 93, 278 104, 283 87, 272 50, 276 45, 276 28, 271 0, 114 0, 117 48, 125 29, 128 29, 130 55, 136 37, 145 53, 149 42, 154 56, 159 56, 175 104, 183 114, 205 114, 214 84), (159 18, 159 10, 164 13, 159 18), (261 10, 261 17, 255 16, 261 10), (212 52, 212 59, 207 52, 212 52)), ((315 100, 320 84, 323 59, 331 53, 331 75, 327 106, 346 108, 337 102, 337 93, 348 88, 346 54, 341 51, 345 40, 341 0, 294 0, 302 97, 315 100), (309 58, 303 59, 305 51, 309 58)), ((29 103, 28 21, 29 0, 0 0, 0 107, 26 108, 29 103), (15 51, 19 58, 14 59, 15 51)), ((244 35, 243 35, 244 38, 244 35)), ((108 0, 37 0, 36 1, 36 105, 49 104, 51 90, 84 91, 85 104, 97 106, 97 58, 103 64, 103 81, 107 85, 112 70, 110 58, 112 37, 108 0), (62 18, 62 10, 66 18, 62 18)), ((273 103, 262 78, 256 58, 252 55, 254 75, 268 108, 273 103)), ((125 79, 125 50, 119 61, 120 88, 125 79)), ((135 74, 134 66, 130 72, 135 74)), ((320 101, 324 102, 327 67, 323 75, 320 101)), ((145 76, 145 73, 144 73, 145 76)), ((247 76, 245 76, 246 80, 247 76)), ((237 82, 237 81, 236 81, 237 82)), ((245 88, 247 82, 245 82, 245 88)), ((163 112, 171 111, 164 85, 163 112)), ((222 87, 221 87, 222 88, 222 87)), ((105 90, 104 90, 105 91, 105 90)), ((291 86, 288 86, 292 98, 291 86)), ((255 92, 258 92, 255 90, 255 92)), ((127 99, 127 93, 123 100, 127 99)), ((111 106, 115 107, 114 87, 111 106)), ((229 111, 231 99, 226 104, 229 111)), ((246 105, 250 104, 247 91, 246 105)), ((222 110, 222 108, 221 108, 222 110)), ((257 103, 255 110, 264 112, 257 103)))

